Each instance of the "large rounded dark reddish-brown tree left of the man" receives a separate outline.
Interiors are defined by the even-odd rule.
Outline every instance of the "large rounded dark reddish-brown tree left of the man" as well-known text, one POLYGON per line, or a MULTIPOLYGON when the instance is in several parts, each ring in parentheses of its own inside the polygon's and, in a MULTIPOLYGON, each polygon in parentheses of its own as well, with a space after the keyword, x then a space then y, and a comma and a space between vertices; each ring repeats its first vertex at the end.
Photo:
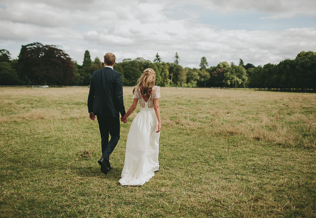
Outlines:
POLYGON ((21 81, 32 84, 71 85, 75 68, 68 54, 55 45, 22 45, 18 59, 21 81))

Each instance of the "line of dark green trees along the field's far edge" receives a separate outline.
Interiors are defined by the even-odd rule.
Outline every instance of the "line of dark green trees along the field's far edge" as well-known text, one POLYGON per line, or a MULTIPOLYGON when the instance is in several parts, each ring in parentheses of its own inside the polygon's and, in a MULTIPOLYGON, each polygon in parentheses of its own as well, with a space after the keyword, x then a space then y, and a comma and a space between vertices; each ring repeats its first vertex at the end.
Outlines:
MULTIPOLYGON (((55 45, 32 43, 22 45, 18 59, 8 50, 0 50, 0 85, 89 85, 94 71, 104 67, 98 57, 91 60, 85 51, 82 65, 73 61, 55 45)), ((295 59, 263 67, 244 62, 238 65, 220 62, 208 67, 205 57, 200 68, 183 68, 176 52, 174 62, 164 62, 158 55, 153 62, 138 57, 124 59, 114 65, 122 74, 123 85, 133 86, 145 68, 156 72, 156 85, 184 87, 258 87, 316 88, 316 53, 302 51, 295 59)))

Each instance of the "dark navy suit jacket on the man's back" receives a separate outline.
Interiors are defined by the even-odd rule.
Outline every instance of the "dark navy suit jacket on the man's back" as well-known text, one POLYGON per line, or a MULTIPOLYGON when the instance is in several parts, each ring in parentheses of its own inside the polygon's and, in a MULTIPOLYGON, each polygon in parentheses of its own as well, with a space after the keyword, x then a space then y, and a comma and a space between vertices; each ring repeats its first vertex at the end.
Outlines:
POLYGON ((93 72, 88 95, 88 111, 94 115, 124 116, 122 75, 105 67, 93 72))

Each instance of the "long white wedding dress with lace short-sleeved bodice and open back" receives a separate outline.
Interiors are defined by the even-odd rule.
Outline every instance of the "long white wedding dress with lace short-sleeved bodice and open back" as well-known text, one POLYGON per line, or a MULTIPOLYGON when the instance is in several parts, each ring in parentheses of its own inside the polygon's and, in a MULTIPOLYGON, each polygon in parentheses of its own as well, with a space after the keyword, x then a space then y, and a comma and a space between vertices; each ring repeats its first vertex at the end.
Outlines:
POLYGON ((134 98, 138 98, 141 110, 134 118, 126 141, 125 162, 122 170, 122 186, 142 186, 159 169, 158 120, 154 110, 154 100, 160 97, 160 87, 154 86, 147 102, 138 88, 134 98))

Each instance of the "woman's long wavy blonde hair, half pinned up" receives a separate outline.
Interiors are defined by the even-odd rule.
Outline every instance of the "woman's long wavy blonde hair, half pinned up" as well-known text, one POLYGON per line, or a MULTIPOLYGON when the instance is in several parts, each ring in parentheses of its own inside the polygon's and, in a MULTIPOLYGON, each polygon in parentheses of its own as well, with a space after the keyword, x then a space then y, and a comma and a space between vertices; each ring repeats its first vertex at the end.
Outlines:
MULTIPOLYGON (((149 97, 155 86, 156 73, 153 69, 147 68, 143 71, 143 74, 137 81, 136 87, 139 88, 141 95, 149 97)), ((133 94, 136 87, 133 89, 133 94)))

